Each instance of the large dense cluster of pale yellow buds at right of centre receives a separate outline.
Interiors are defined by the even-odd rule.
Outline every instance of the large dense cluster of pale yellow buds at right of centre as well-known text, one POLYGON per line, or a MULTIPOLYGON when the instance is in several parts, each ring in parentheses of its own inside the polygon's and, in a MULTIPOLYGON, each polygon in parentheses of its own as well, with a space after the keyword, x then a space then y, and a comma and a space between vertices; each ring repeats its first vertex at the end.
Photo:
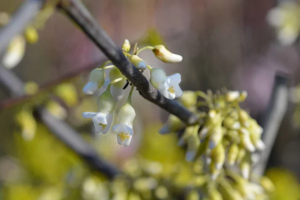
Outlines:
POLYGON ((247 96, 245 91, 223 91, 207 94, 202 91, 184 91, 179 102, 199 116, 198 123, 186 126, 170 115, 160 133, 180 132, 178 145, 186 144, 186 160, 203 159, 215 180, 227 166, 236 165, 243 178, 250 176, 253 152, 264 149, 260 139, 262 128, 238 103, 247 96), (198 100, 198 97, 204 100, 198 100), (207 106, 208 111, 198 111, 207 106))

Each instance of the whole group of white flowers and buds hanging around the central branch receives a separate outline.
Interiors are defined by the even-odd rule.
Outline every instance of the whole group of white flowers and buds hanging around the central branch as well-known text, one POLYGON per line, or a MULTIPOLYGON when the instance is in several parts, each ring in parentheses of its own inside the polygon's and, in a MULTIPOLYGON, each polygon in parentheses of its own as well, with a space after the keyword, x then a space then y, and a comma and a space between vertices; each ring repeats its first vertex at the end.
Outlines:
MULTIPOLYGON (((133 54, 130 54, 130 43, 127 39, 124 40, 122 45, 123 54, 129 59, 129 61, 138 70, 150 70, 150 83, 157 88, 162 95, 166 98, 174 99, 182 94, 182 90, 179 87, 180 74, 176 73, 171 76, 166 76, 165 72, 161 68, 152 68, 147 65, 140 57, 138 53, 151 49, 154 55, 163 62, 179 62, 182 60, 180 55, 171 53, 163 45, 145 46, 138 49, 135 45, 133 48, 133 54)), ((104 62, 100 67, 93 69, 89 75, 89 81, 83 87, 85 94, 94 94, 98 90, 105 90, 99 92, 97 98, 98 112, 83 112, 84 118, 91 118, 94 124, 95 131, 97 133, 106 134, 112 123, 112 115, 115 109, 117 101, 119 101, 124 95, 124 88, 126 87, 128 80, 122 75, 118 68, 114 65, 106 65, 111 63, 110 60, 104 62), (105 70, 109 70, 108 78, 105 76, 105 70)), ((118 112, 118 123, 112 126, 112 131, 116 133, 118 144, 128 146, 130 144, 133 129, 132 123, 135 117, 135 111, 131 103, 131 94, 133 92, 134 85, 131 84, 131 89, 127 97, 127 101, 122 105, 118 112)))

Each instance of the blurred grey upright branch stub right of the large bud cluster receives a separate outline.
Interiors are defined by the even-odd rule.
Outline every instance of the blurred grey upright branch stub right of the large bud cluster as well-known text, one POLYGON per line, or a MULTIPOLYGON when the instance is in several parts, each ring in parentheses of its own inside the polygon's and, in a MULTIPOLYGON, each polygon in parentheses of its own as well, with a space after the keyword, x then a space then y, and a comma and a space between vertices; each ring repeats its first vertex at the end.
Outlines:
POLYGON ((287 86, 288 79, 286 77, 282 75, 275 76, 270 100, 261 122, 263 128, 261 139, 265 144, 265 149, 261 152, 259 164, 254 168, 254 173, 257 175, 264 173, 278 129, 286 112, 288 102, 287 86))

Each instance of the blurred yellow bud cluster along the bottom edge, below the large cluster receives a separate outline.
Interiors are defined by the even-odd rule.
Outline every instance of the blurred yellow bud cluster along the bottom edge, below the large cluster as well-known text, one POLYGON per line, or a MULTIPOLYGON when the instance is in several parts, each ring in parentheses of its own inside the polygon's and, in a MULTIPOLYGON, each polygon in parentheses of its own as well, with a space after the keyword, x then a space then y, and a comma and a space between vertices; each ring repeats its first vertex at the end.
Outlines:
POLYGON ((98 199, 176 199, 179 190, 174 188, 171 176, 162 173, 159 162, 144 159, 129 159, 123 165, 124 174, 105 182, 96 177, 88 177, 82 184, 84 200, 98 199))

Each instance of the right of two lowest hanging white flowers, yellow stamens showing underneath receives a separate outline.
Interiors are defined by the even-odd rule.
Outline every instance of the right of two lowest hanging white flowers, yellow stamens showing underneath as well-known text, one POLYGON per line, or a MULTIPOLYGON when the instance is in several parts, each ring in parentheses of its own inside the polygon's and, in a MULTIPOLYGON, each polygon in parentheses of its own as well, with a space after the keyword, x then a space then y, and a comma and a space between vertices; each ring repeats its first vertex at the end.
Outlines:
POLYGON ((133 135, 132 123, 135 117, 135 111, 130 102, 126 102, 119 110, 118 124, 112 127, 117 133, 117 143, 128 146, 133 135))

